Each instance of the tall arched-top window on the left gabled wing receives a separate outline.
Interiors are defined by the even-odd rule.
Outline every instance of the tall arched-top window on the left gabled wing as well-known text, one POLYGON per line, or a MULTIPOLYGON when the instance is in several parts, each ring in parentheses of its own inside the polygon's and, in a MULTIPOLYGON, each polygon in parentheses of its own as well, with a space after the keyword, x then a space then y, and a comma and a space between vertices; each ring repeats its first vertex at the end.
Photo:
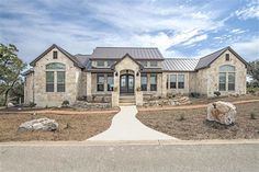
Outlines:
POLYGON ((66 65, 52 62, 46 65, 46 92, 65 92, 66 65), (55 87, 56 85, 56 87, 55 87))

